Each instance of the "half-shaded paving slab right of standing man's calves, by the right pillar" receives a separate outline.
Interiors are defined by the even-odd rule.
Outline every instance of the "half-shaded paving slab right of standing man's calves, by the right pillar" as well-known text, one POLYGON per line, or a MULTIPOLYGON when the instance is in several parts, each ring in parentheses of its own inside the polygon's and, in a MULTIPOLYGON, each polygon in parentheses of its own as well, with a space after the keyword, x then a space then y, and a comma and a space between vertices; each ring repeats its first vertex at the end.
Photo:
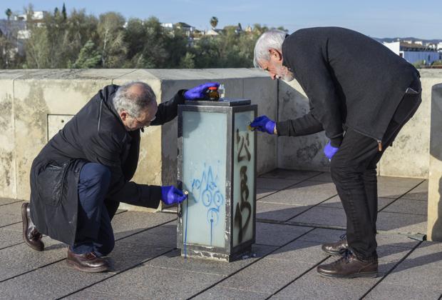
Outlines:
POLYGON ((426 234, 426 216, 381 211, 376 222, 378 230, 426 234))

